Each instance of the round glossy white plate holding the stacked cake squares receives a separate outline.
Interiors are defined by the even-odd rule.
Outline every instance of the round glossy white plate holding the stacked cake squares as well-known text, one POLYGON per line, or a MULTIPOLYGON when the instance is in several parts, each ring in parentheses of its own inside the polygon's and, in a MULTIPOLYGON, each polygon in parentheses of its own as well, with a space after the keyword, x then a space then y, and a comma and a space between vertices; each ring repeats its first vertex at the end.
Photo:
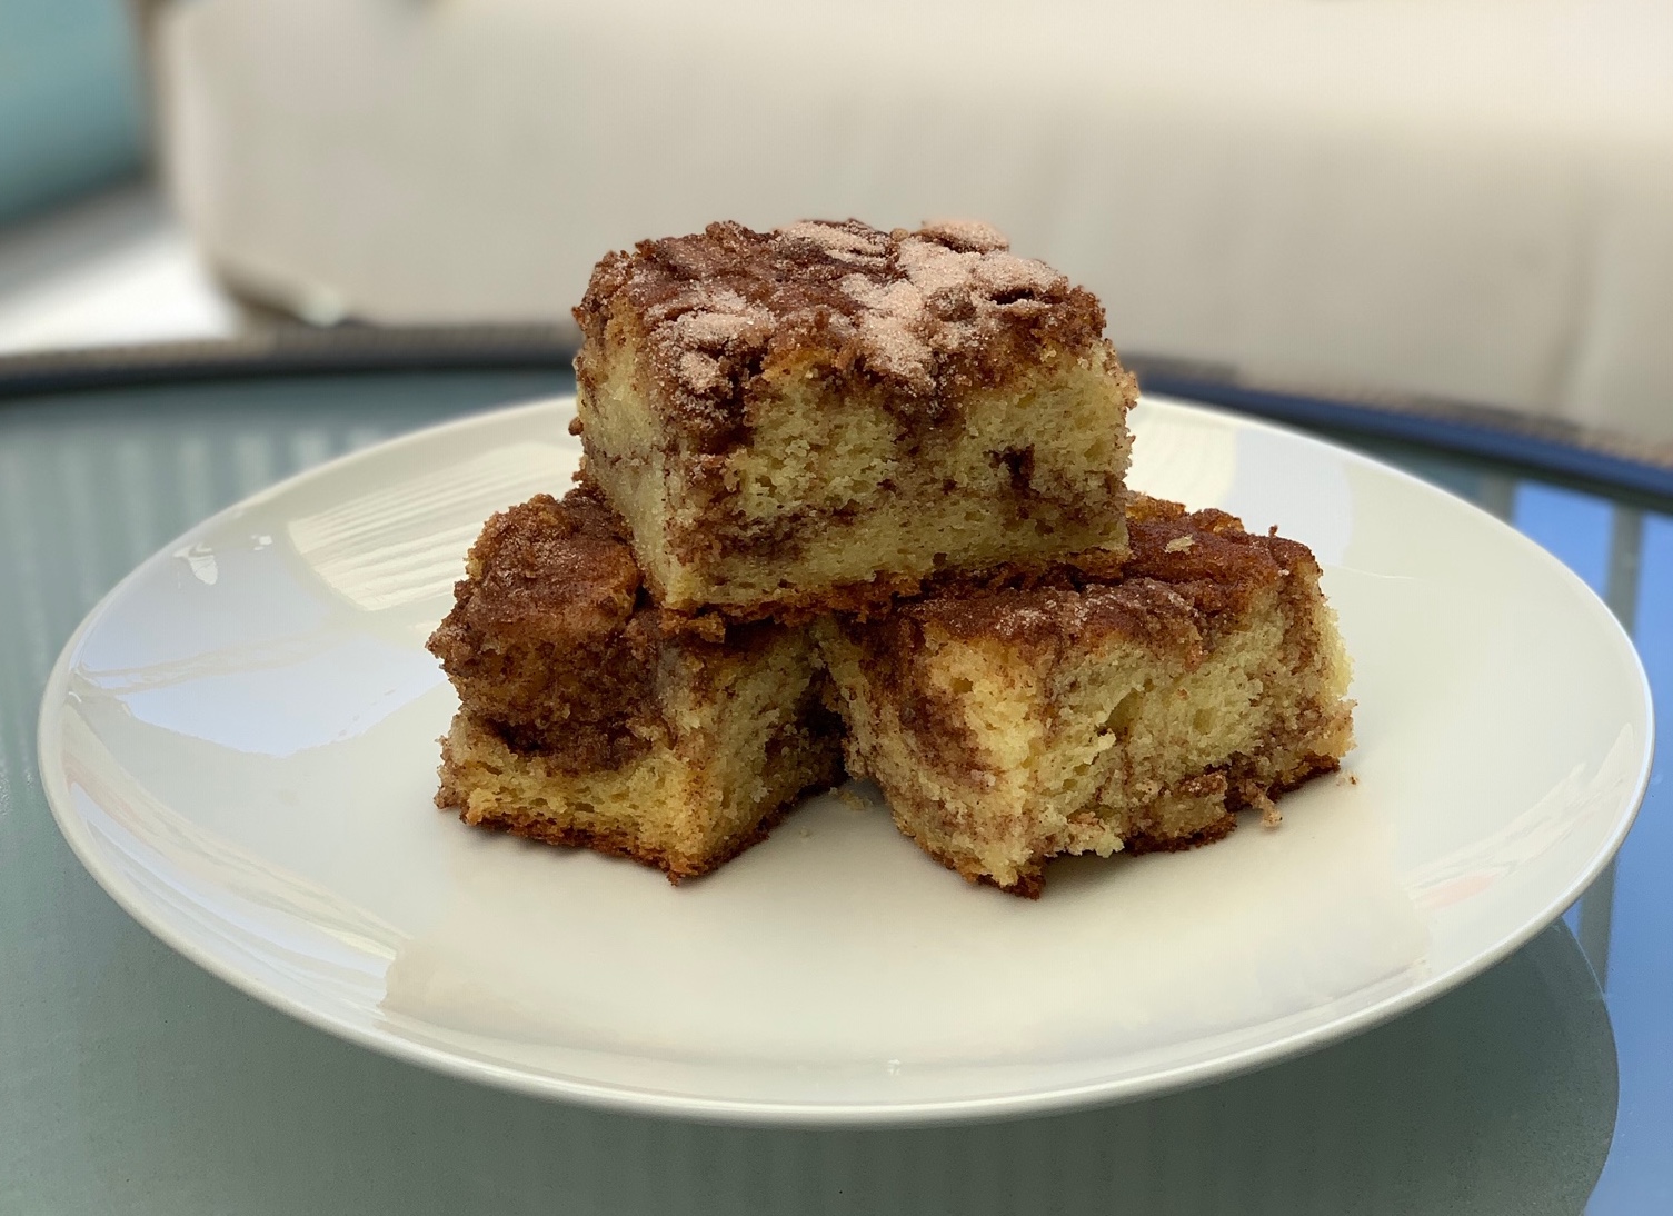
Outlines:
MULTIPOLYGON (((1558 917, 1650 769, 1604 605, 1486 513, 1236 416, 1134 411, 1136 487, 1276 524, 1357 659, 1340 776, 1183 855, 969 886, 823 796, 669 886, 430 805, 423 649, 482 520, 562 492, 570 401, 468 418, 223 512, 125 579, 47 686, 59 825, 124 908, 306 1022, 634 1111, 890 1122, 1113 1101, 1365 1029, 1558 917)), ((863 791, 862 791, 863 793, 863 791)))

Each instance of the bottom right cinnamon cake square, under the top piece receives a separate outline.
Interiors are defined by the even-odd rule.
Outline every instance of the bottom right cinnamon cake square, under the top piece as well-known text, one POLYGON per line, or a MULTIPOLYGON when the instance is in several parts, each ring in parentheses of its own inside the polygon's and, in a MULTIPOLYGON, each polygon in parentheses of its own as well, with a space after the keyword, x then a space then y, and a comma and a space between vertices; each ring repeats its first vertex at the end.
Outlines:
POLYGON ((965 878, 1218 840, 1353 744, 1312 552, 1139 498, 1123 579, 947 589, 820 624, 848 771, 965 878))

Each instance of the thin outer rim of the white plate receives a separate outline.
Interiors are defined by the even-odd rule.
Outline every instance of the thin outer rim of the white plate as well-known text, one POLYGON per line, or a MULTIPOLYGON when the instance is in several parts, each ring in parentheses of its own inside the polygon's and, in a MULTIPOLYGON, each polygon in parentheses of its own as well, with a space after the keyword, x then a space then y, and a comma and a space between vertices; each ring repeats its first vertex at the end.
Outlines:
MULTIPOLYGON (((403 435, 397 435, 353 452, 345 452, 331 460, 303 468, 286 478, 281 478, 279 482, 274 482, 273 485, 263 487, 261 490, 239 498, 234 503, 229 503, 228 507, 223 507, 221 510, 216 510, 209 517, 186 529, 136 564, 132 570, 117 580, 115 585, 100 595, 94 607, 87 611, 59 651, 42 689, 40 708, 37 713, 37 771, 40 774, 42 791, 47 798, 49 808, 52 810, 59 833, 69 843, 77 861, 80 861, 82 868, 87 870, 94 881, 117 903, 117 907, 120 907, 152 937, 199 968, 231 985, 234 990, 243 992, 263 1005, 276 1009, 278 1012, 286 1014, 315 1030, 323 1030, 341 1040, 366 1047, 380 1055, 407 1064, 417 1064, 430 1069, 432 1072, 440 1072, 462 1081, 489 1084, 497 1089, 530 1097, 574 1102, 577 1106, 619 1114, 681 1117, 699 1122, 734 1126, 945 1126, 974 1121, 1037 1117, 1092 1106, 1114 1106, 1129 1101, 1161 1097, 1183 1089, 1228 1081, 1285 1059, 1305 1055, 1363 1034, 1365 1030, 1394 1020, 1395 1017, 1402 1017, 1497 965, 1561 917, 1591 886, 1604 866, 1609 865, 1638 818, 1638 810, 1641 808, 1648 789, 1656 751, 1656 718, 1650 679, 1631 636, 1621 626, 1614 612, 1603 602, 1598 592, 1593 590, 1579 575, 1569 570, 1568 565, 1564 565, 1556 555, 1541 547, 1537 542, 1517 532, 1506 520, 1501 520, 1467 498, 1462 498, 1440 485, 1425 482, 1404 468, 1397 468, 1377 460, 1375 457, 1355 452, 1353 448, 1320 438, 1295 427, 1273 423, 1265 418, 1243 415, 1215 405, 1146 393, 1139 398, 1143 406, 1159 406, 1163 411, 1213 416, 1221 422, 1230 422, 1236 428, 1275 433, 1283 437, 1287 442, 1312 445, 1332 453, 1337 458, 1345 458, 1374 468, 1379 475, 1394 477, 1415 487, 1422 493, 1439 495, 1449 500, 1454 508, 1464 507, 1486 519, 1494 529, 1497 529, 1501 539, 1507 539, 1511 544, 1521 545, 1524 552, 1534 557, 1534 560, 1544 562, 1546 567, 1558 577, 1566 579, 1574 589, 1583 592, 1581 599, 1588 604, 1588 611, 1599 619, 1601 626, 1604 626, 1604 634, 1609 637, 1609 644, 1621 651, 1621 654, 1628 659, 1633 676, 1636 676, 1635 691, 1638 694, 1638 709, 1641 711, 1645 723, 1645 741, 1640 748, 1640 763, 1631 781, 1631 793, 1616 813, 1611 831, 1584 861, 1584 865, 1574 871, 1569 883, 1548 897, 1537 915, 1526 918, 1514 932, 1504 933, 1491 947, 1477 950, 1472 957, 1452 965, 1450 968, 1429 972, 1422 978, 1400 985, 1362 1009, 1255 1045, 1230 1050, 1216 1057, 1190 1064, 1176 1064, 1116 1081, 1094 1079, 1082 1084, 1059 1084, 1037 1091, 954 1099, 913 1099, 907 1102, 835 1104, 813 1101, 703 1097, 684 1092, 656 1091, 622 1082, 599 1082, 584 1077, 542 1074, 530 1069, 519 1069, 510 1064, 477 1059, 463 1054, 462 1050, 447 1050, 395 1035, 386 1030, 378 1030, 376 1027, 360 1025, 340 1019, 333 1012, 289 995, 283 989, 263 984, 259 978, 238 968, 216 952, 199 945, 191 935, 174 932, 164 917, 154 915, 151 902, 144 898, 141 892, 132 888, 115 866, 105 861, 104 855, 92 840, 90 826, 85 818, 75 811, 72 793, 64 781, 64 743, 60 728, 64 709, 67 706, 65 694, 69 686, 70 661, 80 649, 84 639, 102 622, 112 605, 134 582, 141 579, 142 574, 151 570, 157 562, 169 560, 177 549, 191 544, 194 537, 223 525, 239 512, 281 497, 303 482, 326 477, 361 460, 381 457, 405 447, 430 443, 455 430, 472 430, 482 425, 504 425, 514 422, 519 415, 562 411, 565 405, 572 406, 572 403, 574 393, 562 393, 537 398, 534 401, 478 410, 437 425, 420 427, 403 435)), ((631 1052, 619 1054, 631 1055, 631 1052)))

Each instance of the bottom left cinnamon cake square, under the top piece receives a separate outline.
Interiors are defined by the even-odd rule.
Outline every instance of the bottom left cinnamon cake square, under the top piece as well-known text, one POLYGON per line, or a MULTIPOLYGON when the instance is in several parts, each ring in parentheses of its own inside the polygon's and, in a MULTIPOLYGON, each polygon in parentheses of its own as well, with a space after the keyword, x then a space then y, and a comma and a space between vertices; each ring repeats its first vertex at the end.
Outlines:
POLYGON ((490 519, 430 651, 458 691, 437 806, 674 881, 840 779, 806 626, 669 636, 621 520, 589 490, 490 519))

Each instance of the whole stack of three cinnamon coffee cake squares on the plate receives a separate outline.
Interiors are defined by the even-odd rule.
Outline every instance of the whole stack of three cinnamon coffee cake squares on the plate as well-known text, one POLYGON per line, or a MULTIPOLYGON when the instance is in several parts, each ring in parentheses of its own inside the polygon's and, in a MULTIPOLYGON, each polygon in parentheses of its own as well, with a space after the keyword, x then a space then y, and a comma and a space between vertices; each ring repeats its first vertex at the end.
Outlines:
POLYGON ((579 485, 489 520, 430 639, 467 823, 678 881, 847 773, 1037 897, 1352 746, 1313 555, 1128 490, 1103 308, 994 229, 711 224, 576 318, 579 485))

